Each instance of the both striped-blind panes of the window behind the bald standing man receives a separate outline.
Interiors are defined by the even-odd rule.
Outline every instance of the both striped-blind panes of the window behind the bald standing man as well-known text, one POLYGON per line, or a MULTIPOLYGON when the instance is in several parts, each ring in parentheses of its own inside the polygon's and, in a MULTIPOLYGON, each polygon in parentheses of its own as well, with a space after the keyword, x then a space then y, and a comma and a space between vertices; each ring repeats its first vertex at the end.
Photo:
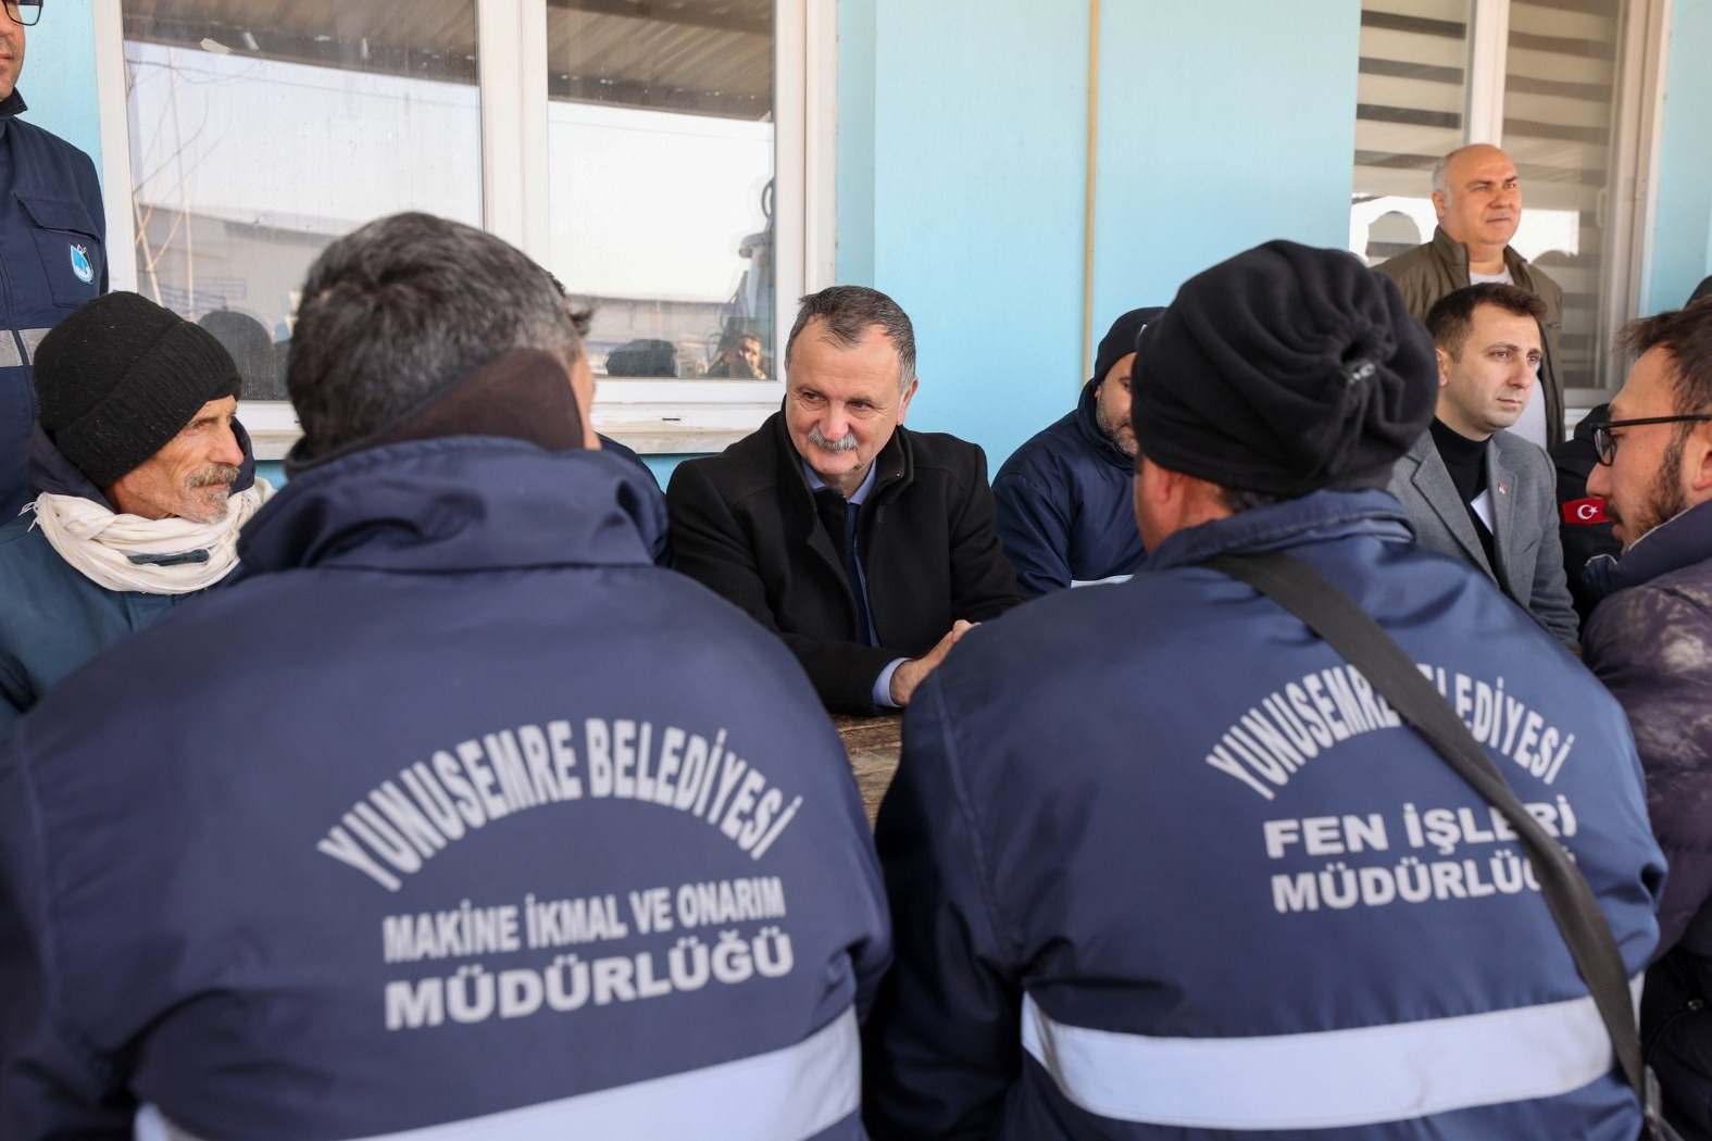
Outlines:
MULTIPOLYGON (((1503 43, 1481 33, 1471 0, 1363 0, 1349 248, 1370 265, 1431 238, 1433 163, 1501 121, 1498 145, 1522 181, 1512 245, 1563 287, 1558 375, 1597 388, 1609 342, 1630 308, 1632 219, 1614 210, 1621 164, 1628 0, 1507 0, 1503 43), (1469 60, 1495 53, 1503 89, 1476 91, 1469 60), (1471 130, 1465 108, 1496 118, 1471 130)), ((1632 94, 1628 98, 1633 98, 1632 94)), ((1616 204, 1621 205, 1621 204, 1616 204)))

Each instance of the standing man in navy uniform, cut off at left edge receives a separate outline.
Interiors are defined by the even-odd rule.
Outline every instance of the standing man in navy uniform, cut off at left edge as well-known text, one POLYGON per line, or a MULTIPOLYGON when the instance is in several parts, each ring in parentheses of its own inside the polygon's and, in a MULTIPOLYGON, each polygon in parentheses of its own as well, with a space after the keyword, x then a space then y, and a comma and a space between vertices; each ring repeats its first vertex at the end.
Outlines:
POLYGON ((24 29, 41 3, 0 0, 0 522, 29 500, 31 358, 53 325, 106 293, 106 217, 89 156, 26 123, 24 29))

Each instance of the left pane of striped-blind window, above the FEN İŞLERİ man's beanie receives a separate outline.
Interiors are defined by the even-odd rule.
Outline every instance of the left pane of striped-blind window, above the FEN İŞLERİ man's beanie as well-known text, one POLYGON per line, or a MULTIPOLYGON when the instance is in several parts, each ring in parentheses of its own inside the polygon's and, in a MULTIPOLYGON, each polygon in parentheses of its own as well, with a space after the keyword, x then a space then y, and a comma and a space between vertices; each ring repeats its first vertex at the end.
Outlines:
POLYGON ((1378 265, 1433 238, 1433 163, 1462 145, 1469 0, 1363 0, 1349 248, 1378 265))

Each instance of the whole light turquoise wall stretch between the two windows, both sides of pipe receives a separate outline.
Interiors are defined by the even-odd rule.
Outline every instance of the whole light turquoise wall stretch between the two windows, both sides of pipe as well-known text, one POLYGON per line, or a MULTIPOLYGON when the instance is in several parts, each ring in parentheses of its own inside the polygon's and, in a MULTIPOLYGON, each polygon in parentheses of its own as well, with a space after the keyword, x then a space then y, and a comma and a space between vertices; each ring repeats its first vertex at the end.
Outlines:
MULTIPOLYGON (((1085 380, 1087 9, 839 3, 839 281, 916 323, 909 424, 995 469, 1085 380)), ((1269 238, 1344 245, 1359 17, 1359 0, 1103 5, 1094 340, 1269 238)))

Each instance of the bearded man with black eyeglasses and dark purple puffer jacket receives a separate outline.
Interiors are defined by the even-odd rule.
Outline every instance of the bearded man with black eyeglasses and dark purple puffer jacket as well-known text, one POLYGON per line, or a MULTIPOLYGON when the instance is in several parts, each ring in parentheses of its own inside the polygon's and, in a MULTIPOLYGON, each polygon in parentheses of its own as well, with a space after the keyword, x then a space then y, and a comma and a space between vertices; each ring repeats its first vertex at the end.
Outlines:
POLYGON ((1635 322, 1628 383, 1592 428, 1623 542, 1587 565, 1587 665, 1628 712, 1671 874, 1642 997, 1647 1061, 1685 1138, 1712 1138, 1712 299, 1635 322))

